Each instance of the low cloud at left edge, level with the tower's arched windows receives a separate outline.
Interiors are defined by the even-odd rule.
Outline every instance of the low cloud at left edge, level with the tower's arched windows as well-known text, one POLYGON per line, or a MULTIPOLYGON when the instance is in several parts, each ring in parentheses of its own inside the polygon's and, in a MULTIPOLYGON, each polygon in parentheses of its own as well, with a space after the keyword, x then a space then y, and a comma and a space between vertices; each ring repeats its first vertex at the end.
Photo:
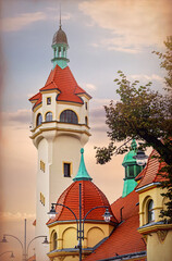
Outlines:
POLYGON ((29 123, 30 122, 30 110, 17 110, 15 112, 2 112, 2 119, 5 123, 29 123))

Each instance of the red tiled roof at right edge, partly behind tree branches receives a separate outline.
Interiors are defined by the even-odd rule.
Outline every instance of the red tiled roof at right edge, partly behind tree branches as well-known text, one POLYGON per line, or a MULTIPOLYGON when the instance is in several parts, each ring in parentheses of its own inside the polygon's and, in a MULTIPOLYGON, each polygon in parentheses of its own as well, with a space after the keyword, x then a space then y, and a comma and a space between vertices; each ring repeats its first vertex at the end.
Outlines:
POLYGON ((140 178, 140 182, 138 183, 135 189, 142 188, 152 183, 164 181, 165 178, 159 175, 159 171, 163 166, 165 166, 165 162, 160 162, 159 153, 156 150, 152 150, 148 158, 146 167, 136 177, 136 179, 140 178))

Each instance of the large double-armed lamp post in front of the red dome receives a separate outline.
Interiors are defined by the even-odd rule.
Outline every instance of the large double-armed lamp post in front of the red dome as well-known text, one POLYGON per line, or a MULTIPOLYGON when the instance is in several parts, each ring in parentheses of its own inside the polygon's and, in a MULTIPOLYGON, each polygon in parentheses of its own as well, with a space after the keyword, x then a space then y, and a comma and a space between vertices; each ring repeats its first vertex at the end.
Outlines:
POLYGON ((50 219, 56 217, 56 214, 58 214, 56 212, 54 206, 62 206, 62 207, 69 209, 72 212, 72 214, 74 215, 75 220, 76 220, 76 224, 77 224, 77 240, 78 240, 78 249, 79 249, 79 261, 82 261, 82 251, 83 251, 83 249, 82 249, 82 240, 84 240, 84 223, 86 221, 86 217, 93 210, 105 208, 106 212, 105 212, 105 214, 102 216, 105 217, 106 222, 109 222, 111 216, 112 216, 110 214, 110 212, 109 212, 109 207, 107 207, 107 206, 98 206, 98 207, 91 208, 85 214, 85 216, 83 219, 83 222, 82 222, 82 184, 81 183, 79 183, 79 204, 78 204, 78 208, 79 208, 79 219, 77 219, 76 214, 74 213, 74 211, 71 208, 69 208, 67 206, 62 204, 62 203, 51 203, 51 210, 48 212, 48 214, 50 215, 50 219))

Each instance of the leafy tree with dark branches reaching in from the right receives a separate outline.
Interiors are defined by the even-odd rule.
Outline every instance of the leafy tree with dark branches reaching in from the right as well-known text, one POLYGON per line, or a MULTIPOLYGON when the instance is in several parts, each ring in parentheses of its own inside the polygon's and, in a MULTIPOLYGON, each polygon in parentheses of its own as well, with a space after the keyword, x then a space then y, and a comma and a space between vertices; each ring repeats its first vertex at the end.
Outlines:
POLYGON ((138 80, 128 82, 123 72, 119 71, 120 78, 114 82, 119 86, 116 94, 120 100, 105 107, 110 142, 108 147, 97 148, 96 159, 97 163, 105 164, 113 154, 124 153, 128 150, 127 141, 133 138, 142 140, 142 148, 156 149, 168 165, 168 179, 161 186, 168 188, 168 194, 163 196, 170 202, 169 212, 162 212, 162 216, 172 216, 172 36, 168 37, 164 45, 164 54, 155 53, 162 60, 160 66, 167 71, 165 95, 153 91, 151 83, 138 86, 138 80), (116 141, 123 141, 123 146, 116 149, 116 141))

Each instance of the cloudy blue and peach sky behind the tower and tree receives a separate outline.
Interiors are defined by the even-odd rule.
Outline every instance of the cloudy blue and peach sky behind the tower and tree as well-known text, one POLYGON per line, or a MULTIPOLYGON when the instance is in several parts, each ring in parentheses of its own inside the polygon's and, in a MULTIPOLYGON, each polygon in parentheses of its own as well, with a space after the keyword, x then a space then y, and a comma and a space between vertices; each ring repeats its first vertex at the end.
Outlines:
MULTIPOLYGON (((52 69, 52 37, 59 28, 59 0, 2 0, 1 41, 1 231, 27 243, 34 237, 37 151, 29 139, 32 105, 28 101, 44 87, 52 69)), ((96 164, 95 146, 108 138, 103 105, 118 100, 113 82, 121 70, 128 80, 152 82, 163 91, 165 72, 152 51, 164 51, 171 35, 172 0, 63 0, 62 29, 70 45, 69 66, 91 97, 91 137, 85 146, 85 163, 95 184, 110 202, 122 195, 124 156, 106 165, 96 164)), ((1 245, 2 246, 2 245, 1 245)), ((2 250, 19 243, 9 238, 2 250)), ((2 252, 2 251, 1 251, 2 252)), ((34 245, 29 253, 34 253, 34 245)), ((4 261, 9 260, 8 253, 4 261)))

